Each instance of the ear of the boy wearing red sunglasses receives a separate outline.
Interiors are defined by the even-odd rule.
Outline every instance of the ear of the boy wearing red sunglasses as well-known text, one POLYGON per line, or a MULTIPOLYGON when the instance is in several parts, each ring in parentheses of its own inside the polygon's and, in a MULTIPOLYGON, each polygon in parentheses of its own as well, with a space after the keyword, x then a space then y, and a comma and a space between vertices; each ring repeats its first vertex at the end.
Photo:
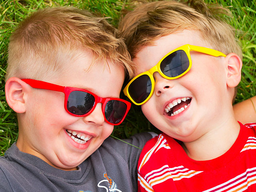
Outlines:
POLYGON ((26 112, 25 92, 27 84, 17 77, 11 77, 5 84, 5 97, 8 105, 17 113, 26 112))

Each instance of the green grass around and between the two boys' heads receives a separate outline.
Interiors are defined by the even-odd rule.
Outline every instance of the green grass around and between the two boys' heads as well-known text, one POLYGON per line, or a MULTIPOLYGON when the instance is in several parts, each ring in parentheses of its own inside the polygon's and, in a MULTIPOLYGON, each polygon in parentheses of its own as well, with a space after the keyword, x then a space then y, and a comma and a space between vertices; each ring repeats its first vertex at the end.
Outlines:
MULTIPOLYGON (((256 0, 205 0, 205 2, 219 3, 230 9, 233 14, 229 22, 236 28, 236 35, 243 50, 242 80, 238 86, 235 103, 255 96, 256 0)), ((8 42, 16 24, 39 8, 76 6, 110 17, 108 21, 117 27, 120 17, 124 14, 124 8, 130 7, 130 4, 129 0, 0 0, 0 156, 4 155, 18 136, 16 114, 8 107, 4 95, 8 42)), ((140 107, 132 105, 126 120, 115 127, 112 135, 117 138, 127 138, 148 130, 156 131, 144 118, 140 107)))

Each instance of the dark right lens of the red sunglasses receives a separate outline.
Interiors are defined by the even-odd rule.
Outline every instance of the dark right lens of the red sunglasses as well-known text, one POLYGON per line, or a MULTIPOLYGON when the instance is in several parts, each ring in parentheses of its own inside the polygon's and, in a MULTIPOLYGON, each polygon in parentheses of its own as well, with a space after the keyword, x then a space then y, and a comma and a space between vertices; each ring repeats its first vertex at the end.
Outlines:
POLYGON ((118 124, 126 113, 127 106, 124 102, 118 100, 110 100, 105 106, 105 117, 108 122, 118 124))

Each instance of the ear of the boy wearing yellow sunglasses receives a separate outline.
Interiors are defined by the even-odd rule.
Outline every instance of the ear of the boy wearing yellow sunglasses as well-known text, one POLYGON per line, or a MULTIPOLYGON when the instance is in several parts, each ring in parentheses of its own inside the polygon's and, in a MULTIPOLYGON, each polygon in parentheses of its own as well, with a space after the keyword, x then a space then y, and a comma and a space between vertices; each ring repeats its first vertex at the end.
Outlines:
POLYGON ((241 80, 242 60, 235 53, 230 53, 225 57, 227 68, 227 86, 236 87, 241 80))

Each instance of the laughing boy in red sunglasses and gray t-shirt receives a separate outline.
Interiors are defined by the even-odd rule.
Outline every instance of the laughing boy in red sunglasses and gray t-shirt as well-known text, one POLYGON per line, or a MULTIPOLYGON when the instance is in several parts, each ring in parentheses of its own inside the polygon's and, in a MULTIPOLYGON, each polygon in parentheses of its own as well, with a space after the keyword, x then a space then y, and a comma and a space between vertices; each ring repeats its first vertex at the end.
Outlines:
POLYGON ((118 97, 132 67, 104 18, 67 7, 26 18, 9 44, 5 92, 19 135, 0 158, 1 191, 136 191, 141 150, 108 138, 130 109, 118 97))

